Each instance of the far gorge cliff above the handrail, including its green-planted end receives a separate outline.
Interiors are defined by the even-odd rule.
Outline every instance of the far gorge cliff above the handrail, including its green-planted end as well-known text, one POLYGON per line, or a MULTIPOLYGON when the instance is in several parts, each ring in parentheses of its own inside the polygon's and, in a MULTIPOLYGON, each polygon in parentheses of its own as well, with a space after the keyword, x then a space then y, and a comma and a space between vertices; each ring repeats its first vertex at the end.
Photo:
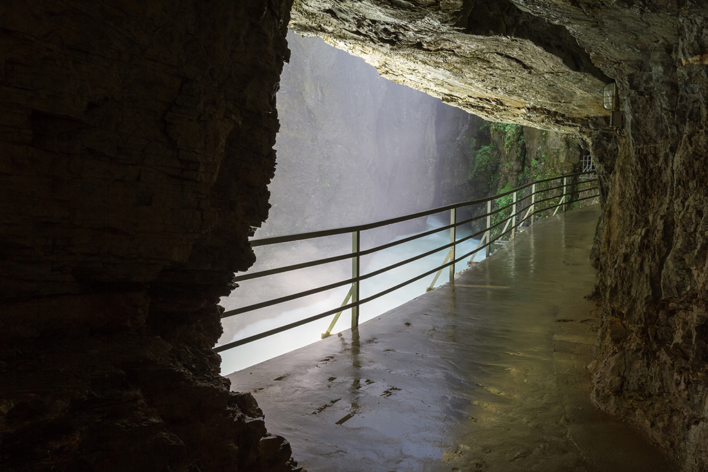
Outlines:
POLYGON ((497 127, 382 79, 320 38, 290 33, 278 92, 277 171, 257 236, 398 217, 576 170, 566 134, 497 127), (514 136, 511 136, 514 134, 514 136), (480 148, 491 162, 479 162, 480 148))

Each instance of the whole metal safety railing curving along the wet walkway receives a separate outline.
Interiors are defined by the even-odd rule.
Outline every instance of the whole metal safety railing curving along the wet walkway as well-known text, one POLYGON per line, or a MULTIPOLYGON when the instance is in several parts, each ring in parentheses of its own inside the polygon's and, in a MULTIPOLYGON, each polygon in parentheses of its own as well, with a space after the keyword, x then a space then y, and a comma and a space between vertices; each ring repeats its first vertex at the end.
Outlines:
MULTIPOLYGON (((564 175, 560 177, 547 178, 543 180, 537 180, 533 183, 523 185, 519 188, 509 190, 508 192, 503 192, 501 194, 495 195, 493 197, 487 197, 481 200, 474 200, 470 202, 461 202, 454 205, 446 205, 445 207, 438 207, 435 209, 430 209, 425 212, 417 212, 413 214, 406 215, 404 217, 387 219, 384 221, 377 221, 370 224, 362 224, 358 226, 348 226, 346 228, 330 229, 325 231, 312 231, 310 233, 302 234, 290 234, 287 236, 276 236, 273 238, 261 238, 251 240, 251 247, 258 246, 269 246, 278 243, 287 243, 292 241, 304 241, 313 238, 322 238, 325 236, 335 236, 339 234, 351 234, 352 238, 352 251, 351 253, 346 253, 342 255, 336 255, 329 258, 322 258, 318 260, 312 260, 305 263, 298 263, 292 265, 286 265, 284 267, 278 267, 270 270, 261 270, 260 272, 245 273, 234 278, 234 282, 240 282, 244 280, 251 280, 260 277, 268 277, 270 275, 282 274, 285 272, 291 272, 293 270, 299 270, 306 267, 314 267, 317 265, 324 265, 328 263, 337 262, 340 260, 351 260, 351 278, 346 280, 340 280, 338 282, 333 282, 331 284, 326 284, 321 287, 316 287, 314 289, 305 290, 295 294, 290 294, 284 297, 277 297, 275 299, 270 299, 267 301, 262 301, 260 303, 251 304, 249 306, 244 306, 239 309, 228 310, 222 313, 222 318, 228 318, 229 316, 236 316, 241 313, 246 313, 249 311, 254 311, 257 309, 262 309, 267 306, 273 306, 276 304, 282 304, 287 301, 292 301, 295 299, 300 299, 302 297, 308 297, 309 295, 318 294, 321 292, 326 292, 327 290, 335 289, 338 287, 350 287, 348 294, 346 295, 341 306, 335 309, 324 311, 323 313, 316 314, 314 316, 309 316, 303 318, 302 320, 295 321, 293 323, 287 323, 278 328, 273 328, 266 330, 263 333, 256 335, 251 335, 249 337, 232 341, 231 343, 226 343, 224 345, 219 345, 214 348, 215 352, 222 352, 232 347, 237 347, 244 345, 246 343, 251 343, 253 341, 266 338, 270 335, 275 335, 277 333, 282 333, 285 330, 290 330, 292 328, 297 328, 312 321, 319 320, 321 318, 326 318, 327 316, 334 315, 333 321, 327 329, 326 333, 323 333, 322 337, 330 335, 331 330, 335 326, 339 316, 343 311, 351 309, 351 326, 355 328, 359 324, 359 307, 366 304, 369 301, 375 300, 379 297, 383 297, 386 294, 394 292, 397 289, 405 287, 413 282, 428 277, 435 274, 433 282, 428 287, 428 290, 432 289, 437 282, 438 277, 446 267, 450 270, 450 282, 455 280, 455 265, 464 259, 472 256, 468 264, 472 264, 474 260, 474 255, 479 251, 485 251, 486 257, 489 257, 491 252, 491 246, 495 243, 503 243, 510 239, 513 239, 517 231, 523 231, 525 227, 530 226, 535 218, 549 216, 556 214, 559 209, 566 211, 569 205, 581 202, 583 200, 588 200, 590 198, 598 197, 598 185, 592 186, 593 183, 597 183, 597 178, 594 175, 588 175, 588 173, 575 173, 571 175, 564 175), (555 182, 559 185, 555 185, 555 182), (562 183, 561 183, 562 182, 562 183), (550 194, 550 196, 549 196, 550 194), (508 202, 510 198, 510 202, 508 202), (486 204, 486 212, 484 214, 477 214, 475 216, 462 219, 462 221, 457 221, 457 216, 459 214, 458 210, 464 209, 466 207, 475 207, 476 205, 486 204), (429 231, 423 231, 419 234, 414 234, 413 236, 408 236, 406 238, 401 238, 396 241, 381 244, 374 248, 361 250, 361 234, 362 231, 367 231, 370 229, 381 228, 383 226, 388 226, 391 224, 401 223, 402 221, 409 221, 412 219, 418 219, 421 217, 428 217, 433 214, 441 212, 450 212, 450 224, 446 226, 440 226, 429 231), (522 216, 523 215, 523 216, 522 216), (520 218, 520 219, 518 219, 520 218), (480 231, 472 232, 468 236, 462 238, 457 238, 456 229, 459 226, 465 224, 474 224, 475 221, 486 219, 484 224, 484 229, 480 231), (518 220, 517 220, 518 219, 518 220), (527 226, 524 226, 524 224, 527 226), (423 238, 425 236, 430 236, 432 234, 439 233, 440 231, 450 230, 450 243, 440 246, 438 248, 431 249, 406 260, 399 261, 382 269, 369 272, 365 275, 360 273, 360 262, 361 258, 365 255, 370 255, 383 251, 384 249, 392 248, 409 241, 414 241, 418 238, 423 238), (460 243, 468 241, 472 238, 481 236, 479 244, 477 244, 474 251, 469 251, 464 255, 457 255, 455 249, 460 243), (394 270, 397 267, 412 263, 421 258, 428 257, 440 251, 447 249, 447 256, 442 262, 442 265, 433 268, 432 270, 427 270, 415 277, 411 277, 405 282, 394 285, 394 287, 389 287, 381 292, 377 292, 370 297, 360 299, 360 283, 363 280, 370 279, 376 275, 380 275, 389 270, 394 270)), ((474 214, 474 213, 472 213, 474 214)))

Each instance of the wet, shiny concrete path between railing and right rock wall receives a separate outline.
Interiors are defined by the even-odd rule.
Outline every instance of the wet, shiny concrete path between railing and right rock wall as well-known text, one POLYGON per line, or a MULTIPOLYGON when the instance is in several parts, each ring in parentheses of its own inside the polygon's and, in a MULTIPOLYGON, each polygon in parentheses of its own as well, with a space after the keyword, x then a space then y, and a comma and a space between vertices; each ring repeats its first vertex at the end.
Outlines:
POLYGON ((310 472, 673 471, 590 401, 597 218, 539 221, 454 285, 236 372, 233 388, 310 472))

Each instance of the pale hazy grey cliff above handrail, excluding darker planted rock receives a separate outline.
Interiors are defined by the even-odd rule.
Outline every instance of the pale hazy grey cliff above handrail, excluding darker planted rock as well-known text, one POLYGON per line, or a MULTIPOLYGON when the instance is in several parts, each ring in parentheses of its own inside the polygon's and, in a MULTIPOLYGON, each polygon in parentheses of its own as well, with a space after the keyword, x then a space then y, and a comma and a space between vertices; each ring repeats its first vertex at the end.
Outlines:
POLYGON ((319 38, 290 33, 288 40, 272 207, 258 236, 432 207, 439 100, 381 79, 361 59, 319 38))

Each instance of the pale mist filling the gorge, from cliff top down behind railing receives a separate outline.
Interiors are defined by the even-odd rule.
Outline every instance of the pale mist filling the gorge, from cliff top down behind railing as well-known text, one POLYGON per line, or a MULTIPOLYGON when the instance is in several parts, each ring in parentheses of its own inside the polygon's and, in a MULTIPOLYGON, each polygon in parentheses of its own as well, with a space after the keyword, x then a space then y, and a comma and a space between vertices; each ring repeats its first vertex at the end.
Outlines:
MULTIPOLYGON (((516 186, 526 171, 541 169, 552 146, 566 156, 564 139, 549 139, 539 130, 515 129, 521 139, 509 146, 507 128, 445 105, 438 98, 379 76, 363 59, 327 45, 321 38, 287 37, 292 51, 278 92, 280 132, 278 163, 269 185, 270 214, 255 238, 282 236, 371 223, 454 202, 494 195, 503 185, 516 186), (503 132, 502 132, 503 131, 503 132), (538 155, 527 151, 523 137, 538 141, 538 155), (554 139, 558 141, 554 144, 554 139), (496 140, 496 141, 495 141, 496 140), (541 150, 542 144, 544 149, 541 150), (487 149, 484 161, 481 150, 487 149), (492 149, 492 159, 489 159, 492 149), (496 150, 498 149, 498 151, 496 150), (479 161, 479 162, 477 162, 479 161)), ((556 149, 553 148, 553 149, 556 149)), ((559 158, 560 161, 563 159, 559 158)), ((567 159, 566 159, 567 160, 567 159)), ((537 174, 541 175, 538 171, 537 174)), ((536 175, 536 177, 538 176, 536 175)), ((406 221, 364 231, 361 248, 443 226, 448 214, 406 221)), ((458 238, 472 228, 459 228, 458 238)), ((450 242, 449 231, 396 246, 362 258, 361 274, 430 251, 450 242)), ((459 251, 471 251, 469 241, 459 251)), ((249 272, 341 255, 351 251, 348 234, 254 248, 256 263, 249 272)), ((447 250, 360 283, 361 298, 404 282, 442 264, 447 250)), ((481 253, 476 256, 482 257, 481 253)), ((461 270, 462 267, 457 267, 461 270)), ((239 282, 221 301, 239 309, 267 299, 295 294, 351 276, 350 260, 281 275, 239 282)), ((360 307, 360 321, 426 292, 433 275, 360 307)), ((437 284, 447 282, 447 270, 437 284)), ((321 292, 248 313, 224 318, 219 345, 334 309, 349 286, 321 292)), ((221 353, 222 374, 244 369, 319 340, 332 316, 221 353)), ((350 326, 342 313, 332 333, 350 326)))

